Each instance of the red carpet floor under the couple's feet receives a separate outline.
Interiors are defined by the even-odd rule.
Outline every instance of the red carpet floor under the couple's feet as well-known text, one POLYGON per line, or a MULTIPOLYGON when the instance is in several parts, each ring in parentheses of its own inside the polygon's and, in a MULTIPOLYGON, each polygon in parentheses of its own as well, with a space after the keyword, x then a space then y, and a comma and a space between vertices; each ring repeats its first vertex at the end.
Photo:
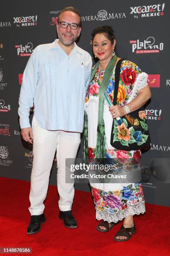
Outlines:
POLYGON ((47 220, 39 233, 27 235, 29 189, 30 182, 0 178, 0 247, 32 247, 35 256, 170 255, 169 207, 146 204, 146 213, 134 218, 137 234, 130 241, 115 242, 113 237, 122 222, 110 232, 98 232, 88 192, 75 191, 72 210, 78 227, 65 228, 58 218, 57 189, 50 186, 45 202, 47 220))

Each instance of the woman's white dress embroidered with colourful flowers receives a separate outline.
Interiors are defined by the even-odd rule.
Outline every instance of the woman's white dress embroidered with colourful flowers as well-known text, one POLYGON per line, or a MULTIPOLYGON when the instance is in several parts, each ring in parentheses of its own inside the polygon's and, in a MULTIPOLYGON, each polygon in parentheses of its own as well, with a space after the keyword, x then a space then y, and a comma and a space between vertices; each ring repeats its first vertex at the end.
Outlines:
MULTIPOLYGON (((137 96, 138 90, 148 84, 148 75, 142 72, 136 64, 127 60, 122 61, 120 70, 121 82, 119 83, 117 104, 124 106, 137 96)), ((95 77, 88 87, 85 98, 85 111, 88 115, 89 158, 95 158, 99 91, 104 72, 105 70, 97 69, 95 77)), ((113 74, 107 87, 107 93, 111 100, 113 100, 114 97, 114 87, 115 68, 113 69, 113 74)), ((123 151, 117 150, 110 145, 113 120, 107 103, 105 102, 104 104, 103 119, 105 123, 106 158, 140 158, 140 150, 123 151)), ((125 133, 123 137, 125 141, 128 140, 127 136, 128 133, 125 133)), ((91 183, 91 187, 97 220, 103 219, 107 220, 109 223, 117 222, 129 215, 145 212, 143 188, 140 183, 91 183)))

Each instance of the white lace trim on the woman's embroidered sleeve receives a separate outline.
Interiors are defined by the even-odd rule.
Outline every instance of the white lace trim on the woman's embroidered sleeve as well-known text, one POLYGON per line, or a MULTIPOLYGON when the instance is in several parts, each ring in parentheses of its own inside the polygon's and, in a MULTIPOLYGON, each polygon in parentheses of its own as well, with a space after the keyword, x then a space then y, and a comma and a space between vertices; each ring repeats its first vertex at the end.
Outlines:
POLYGON ((132 94, 127 103, 131 102, 137 96, 137 92, 148 85, 148 74, 142 72, 138 75, 138 78, 134 84, 132 94))

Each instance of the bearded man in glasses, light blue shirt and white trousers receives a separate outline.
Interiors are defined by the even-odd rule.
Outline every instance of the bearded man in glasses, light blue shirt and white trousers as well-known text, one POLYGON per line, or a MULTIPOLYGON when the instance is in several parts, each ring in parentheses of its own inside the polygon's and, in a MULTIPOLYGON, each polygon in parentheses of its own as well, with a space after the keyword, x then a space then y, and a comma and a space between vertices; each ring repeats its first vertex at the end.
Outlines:
POLYGON ((84 100, 92 59, 75 41, 81 32, 81 16, 73 7, 61 11, 58 38, 35 48, 23 74, 19 109, 21 135, 33 142, 30 207, 27 234, 37 233, 45 221, 43 201, 57 151, 59 217, 68 228, 76 228, 72 216, 74 184, 65 182, 65 159, 75 159, 83 130, 84 100), (32 128, 30 108, 35 105, 32 128))

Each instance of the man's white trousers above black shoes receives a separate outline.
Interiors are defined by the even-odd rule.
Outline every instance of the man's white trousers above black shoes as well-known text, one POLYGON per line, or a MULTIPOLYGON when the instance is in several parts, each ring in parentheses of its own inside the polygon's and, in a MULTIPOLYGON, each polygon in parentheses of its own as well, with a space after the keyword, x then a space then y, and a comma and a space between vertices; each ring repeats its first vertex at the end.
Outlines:
POLYGON ((31 215, 43 213, 43 204, 49 184, 55 150, 57 151, 57 189, 60 195, 61 211, 71 210, 74 198, 74 184, 65 182, 65 159, 75 159, 80 145, 80 133, 65 131, 48 131, 37 125, 36 118, 32 120, 33 132, 33 165, 30 187, 31 215))

